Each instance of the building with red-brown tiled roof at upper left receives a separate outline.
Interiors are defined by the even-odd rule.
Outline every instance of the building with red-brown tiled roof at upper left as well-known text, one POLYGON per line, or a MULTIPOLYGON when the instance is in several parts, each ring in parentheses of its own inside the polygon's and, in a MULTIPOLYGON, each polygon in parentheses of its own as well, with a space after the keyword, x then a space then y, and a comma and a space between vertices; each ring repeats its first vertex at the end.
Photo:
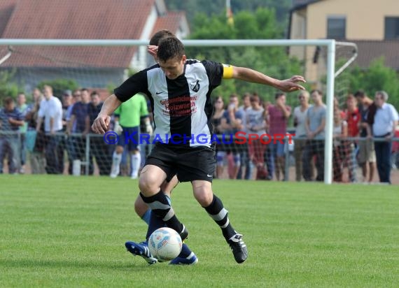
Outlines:
MULTIPOLYGON (((0 38, 149 39, 159 29, 190 33, 186 14, 164 0, 1 0, 0 38)), ((8 52, 0 47, 0 59, 8 52)), ((29 92, 38 82, 69 78, 80 87, 123 82, 127 69, 153 64, 146 47, 14 46, 0 69, 15 70, 29 92)))

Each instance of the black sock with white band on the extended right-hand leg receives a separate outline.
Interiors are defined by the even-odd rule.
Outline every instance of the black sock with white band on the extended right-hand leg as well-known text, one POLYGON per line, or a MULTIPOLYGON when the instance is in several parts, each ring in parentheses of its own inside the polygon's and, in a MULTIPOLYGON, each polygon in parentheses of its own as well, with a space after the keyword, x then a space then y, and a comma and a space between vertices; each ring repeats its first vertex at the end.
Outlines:
POLYGON ((207 210, 209 216, 221 227, 226 240, 235 236, 236 231, 230 224, 228 210, 223 207, 223 203, 221 199, 218 199, 218 196, 214 194, 214 200, 212 200, 211 205, 204 208, 207 210))

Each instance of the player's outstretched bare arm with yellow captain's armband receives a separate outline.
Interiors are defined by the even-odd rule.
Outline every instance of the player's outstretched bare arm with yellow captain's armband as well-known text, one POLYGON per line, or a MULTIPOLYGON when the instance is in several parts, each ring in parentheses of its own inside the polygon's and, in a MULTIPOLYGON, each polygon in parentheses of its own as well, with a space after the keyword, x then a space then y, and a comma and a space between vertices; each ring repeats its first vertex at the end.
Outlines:
POLYGON ((224 65, 223 70, 224 70, 223 71, 224 79, 233 78, 233 79, 243 80, 246 82, 269 85, 283 92, 304 90, 304 87, 302 85, 297 84, 297 82, 306 82, 304 78, 300 75, 294 75, 286 80, 278 80, 246 67, 224 65))

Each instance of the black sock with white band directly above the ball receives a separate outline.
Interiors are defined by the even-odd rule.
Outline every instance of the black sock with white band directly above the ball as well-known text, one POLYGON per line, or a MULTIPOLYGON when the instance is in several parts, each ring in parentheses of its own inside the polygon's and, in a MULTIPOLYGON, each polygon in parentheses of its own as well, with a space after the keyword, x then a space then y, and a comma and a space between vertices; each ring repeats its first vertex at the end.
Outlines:
POLYGON ((140 196, 148 207, 151 208, 151 213, 159 217, 169 228, 174 229, 179 234, 183 231, 183 224, 174 215, 174 210, 170 206, 169 201, 167 201, 167 196, 162 191, 149 197, 144 196, 140 192, 140 196))

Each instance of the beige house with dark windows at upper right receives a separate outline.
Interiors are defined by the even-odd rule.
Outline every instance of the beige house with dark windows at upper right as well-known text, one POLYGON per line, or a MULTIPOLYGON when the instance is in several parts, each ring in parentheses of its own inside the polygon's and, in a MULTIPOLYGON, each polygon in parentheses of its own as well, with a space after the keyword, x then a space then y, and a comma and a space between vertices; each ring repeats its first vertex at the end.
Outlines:
MULTIPOLYGON (((384 56, 385 64, 399 71, 398 0, 294 0, 288 29, 291 39, 334 38, 356 43, 355 64, 367 67, 384 56)), ((337 46, 337 58, 342 54, 348 59, 344 49, 337 46)), ((316 51, 311 46, 290 49, 291 56, 304 60, 309 82, 320 80, 325 71, 325 58, 317 57, 316 51)))

